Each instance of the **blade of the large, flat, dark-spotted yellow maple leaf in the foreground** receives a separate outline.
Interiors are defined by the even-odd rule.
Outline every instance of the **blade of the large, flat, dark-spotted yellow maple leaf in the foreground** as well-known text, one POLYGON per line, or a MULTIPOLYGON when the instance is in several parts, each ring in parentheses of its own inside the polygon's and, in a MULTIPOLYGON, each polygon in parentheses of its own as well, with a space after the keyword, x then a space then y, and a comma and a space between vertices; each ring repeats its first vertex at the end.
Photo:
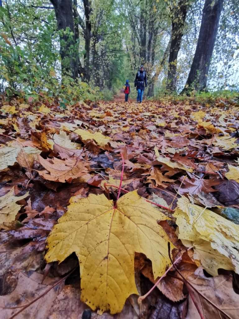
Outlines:
POLYGON ((93 310, 99 308, 100 314, 120 312, 127 297, 138 294, 135 252, 152 261, 154 278, 170 264, 170 240, 157 223, 168 218, 136 190, 120 197, 115 206, 103 194, 90 194, 76 202, 74 198, 47 239, 46 261, 62 262, 75 252, 80 262, 83 302, 93 310))

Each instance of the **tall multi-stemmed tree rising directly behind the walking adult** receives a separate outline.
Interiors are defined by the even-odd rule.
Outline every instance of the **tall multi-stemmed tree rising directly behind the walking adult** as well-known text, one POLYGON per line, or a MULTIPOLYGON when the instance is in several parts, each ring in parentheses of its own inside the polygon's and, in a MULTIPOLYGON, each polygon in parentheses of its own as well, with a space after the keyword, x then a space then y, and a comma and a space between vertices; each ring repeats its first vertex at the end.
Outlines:
POLYGON ((164 51, 158 48, 160 40, 168 33, 166 8, 165 2, 157 0, 123 2, 122 10, 131 29, 126 35, 130 66, 135 75, 139 65, 144 64, 148 75, 148 96, 154 93, 156 70, 165 61, 164 51))

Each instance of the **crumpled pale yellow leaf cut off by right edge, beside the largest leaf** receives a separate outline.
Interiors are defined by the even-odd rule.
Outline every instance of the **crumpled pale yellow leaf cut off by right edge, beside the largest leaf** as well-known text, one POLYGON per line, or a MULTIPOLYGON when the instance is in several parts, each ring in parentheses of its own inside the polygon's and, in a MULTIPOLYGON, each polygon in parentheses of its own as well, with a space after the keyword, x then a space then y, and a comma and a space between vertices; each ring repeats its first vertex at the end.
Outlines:
POLYGON ((191 241, 192 246, 197 245, 199 240, 210 243, 211 247, 207 245, 206 249, 206 243, 202 242, 207 254, 212 255, 213 267, 208 262, 209 256, 205 259, 201 253, 198 254, 208 273, 217 275, 218 268, 233 269, 239 273, 239 225, 213 211, 191 204, 185 196, 178 199, 174 217, 177 219, 179 239, 191 241))

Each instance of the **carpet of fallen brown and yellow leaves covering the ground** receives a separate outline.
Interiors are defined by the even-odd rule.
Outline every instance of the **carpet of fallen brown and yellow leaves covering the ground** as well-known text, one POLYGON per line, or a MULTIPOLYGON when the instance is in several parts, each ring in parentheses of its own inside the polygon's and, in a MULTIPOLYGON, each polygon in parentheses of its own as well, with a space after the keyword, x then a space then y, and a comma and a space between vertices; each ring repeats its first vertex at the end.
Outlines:
POLYGON ((237 318, 235 101, 23 102, 0 115, 1 316, 237 318))

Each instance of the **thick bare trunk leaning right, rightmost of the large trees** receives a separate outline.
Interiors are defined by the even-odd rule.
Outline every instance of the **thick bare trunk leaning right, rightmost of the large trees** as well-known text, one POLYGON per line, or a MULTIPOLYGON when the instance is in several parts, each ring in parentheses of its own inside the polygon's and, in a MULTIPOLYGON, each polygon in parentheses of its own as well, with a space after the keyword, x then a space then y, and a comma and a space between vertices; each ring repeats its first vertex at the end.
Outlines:
POLYGON ((213 54, 223 0, 206 0, 202 13, 199 38, 191 70, 182 93, 206 88, 208 70, 213 54))

